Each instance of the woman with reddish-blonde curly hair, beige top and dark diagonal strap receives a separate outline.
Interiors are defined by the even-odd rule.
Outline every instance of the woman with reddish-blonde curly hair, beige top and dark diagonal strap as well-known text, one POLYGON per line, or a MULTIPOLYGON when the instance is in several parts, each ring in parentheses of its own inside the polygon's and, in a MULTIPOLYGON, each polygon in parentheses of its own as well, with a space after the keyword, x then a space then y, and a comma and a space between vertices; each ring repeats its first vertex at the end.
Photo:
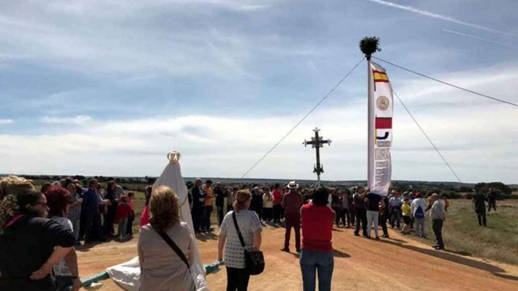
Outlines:
POLYGON ((140 228, 140 290, 194 290, 194 237, 180 221, 178 195, 167 186, 153 189, 149 224, 140 228))

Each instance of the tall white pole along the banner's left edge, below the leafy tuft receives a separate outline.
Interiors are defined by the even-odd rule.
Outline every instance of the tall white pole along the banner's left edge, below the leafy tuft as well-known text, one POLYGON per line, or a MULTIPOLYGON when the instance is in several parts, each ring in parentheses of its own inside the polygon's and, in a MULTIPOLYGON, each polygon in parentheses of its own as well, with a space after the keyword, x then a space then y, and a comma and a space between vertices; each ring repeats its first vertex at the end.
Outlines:
POLYGON ((366 55, 367 57, 367 91, 369 92, 367 94, 367 119, 368 119, 368 130, 367 130, 367 187, 369 189, 372 189, 372 182, 374 173, 372 172, 374 170, 374 139, 375 136, 374 133, 374 96, 373 90, 372 90, 372 69, 370 68, 370 55, 366 55))

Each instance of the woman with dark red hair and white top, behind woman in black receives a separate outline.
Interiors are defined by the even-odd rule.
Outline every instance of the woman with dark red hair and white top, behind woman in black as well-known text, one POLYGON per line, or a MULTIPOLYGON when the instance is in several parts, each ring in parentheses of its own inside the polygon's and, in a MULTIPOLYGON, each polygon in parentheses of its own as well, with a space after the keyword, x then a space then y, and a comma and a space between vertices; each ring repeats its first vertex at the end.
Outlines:
MULTIPOLYGON (((67 218, 72 194, 60 186, 52 186, 44 194, 45 197, 47 197, 49 218, 59 223, 61 226, 74 231, 72 222, 67 218)), ((57 264, 54 265, 53 270, 57 290, 68 291, 74 286, 74 284, 79 284, 80 286, 80 281, 75 280, 74 275, 72 275, 78 273, 77 254, 75 249, 72 249, 64 259, 57 262, 57 264)))

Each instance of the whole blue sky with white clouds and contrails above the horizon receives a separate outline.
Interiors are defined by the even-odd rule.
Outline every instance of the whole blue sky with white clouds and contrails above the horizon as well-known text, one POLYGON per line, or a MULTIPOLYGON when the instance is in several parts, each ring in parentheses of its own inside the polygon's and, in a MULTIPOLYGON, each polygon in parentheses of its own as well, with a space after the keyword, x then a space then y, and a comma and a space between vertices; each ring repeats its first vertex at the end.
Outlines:
MULTIPOLYGON (((0 4, 0 172, 240 177, 362 57, 518 102, 516 2, 16 1, 0 4)), ((465 182, 518 183, 516 108, 398 68, 393 88, 465 182)), ((366 177, 363 63, 248 177, 366 177)), ((400 105, 393 179, 454 176, 400 105)))

